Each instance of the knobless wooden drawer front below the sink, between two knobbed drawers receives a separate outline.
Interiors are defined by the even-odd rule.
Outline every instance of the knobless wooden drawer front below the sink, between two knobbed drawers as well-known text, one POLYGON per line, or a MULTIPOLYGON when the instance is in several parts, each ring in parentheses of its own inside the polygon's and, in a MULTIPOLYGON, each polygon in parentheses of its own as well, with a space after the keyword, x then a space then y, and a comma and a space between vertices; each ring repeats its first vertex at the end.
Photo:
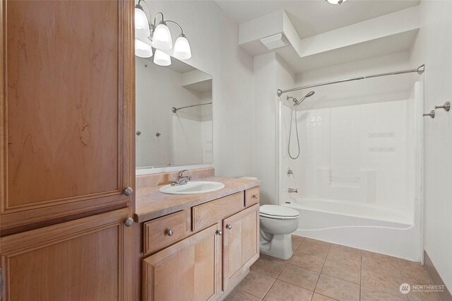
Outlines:
POLYGON ((243 191, 192 208, 193 230, 198 231, 244 208, 243 191))

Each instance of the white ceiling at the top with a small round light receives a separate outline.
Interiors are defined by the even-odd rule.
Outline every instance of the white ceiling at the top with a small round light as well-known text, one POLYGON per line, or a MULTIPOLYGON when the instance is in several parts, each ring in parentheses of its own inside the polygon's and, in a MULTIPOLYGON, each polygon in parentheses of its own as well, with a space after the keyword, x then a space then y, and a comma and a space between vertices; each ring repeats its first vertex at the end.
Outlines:
POLYGON ((215 1, 237 23, 284 9, 302 39, 420 4, 420 0, 348 0, 340 6, 325 0, 215 1))

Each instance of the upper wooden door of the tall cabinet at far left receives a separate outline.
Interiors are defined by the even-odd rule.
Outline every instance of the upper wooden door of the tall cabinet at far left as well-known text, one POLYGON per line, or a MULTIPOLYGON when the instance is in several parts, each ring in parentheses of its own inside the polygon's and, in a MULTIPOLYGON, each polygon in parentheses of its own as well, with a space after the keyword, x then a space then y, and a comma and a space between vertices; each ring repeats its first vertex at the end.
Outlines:
POLYGON ((132 13, 126 0, 1 1, 2 230, 133 203, 132 13))

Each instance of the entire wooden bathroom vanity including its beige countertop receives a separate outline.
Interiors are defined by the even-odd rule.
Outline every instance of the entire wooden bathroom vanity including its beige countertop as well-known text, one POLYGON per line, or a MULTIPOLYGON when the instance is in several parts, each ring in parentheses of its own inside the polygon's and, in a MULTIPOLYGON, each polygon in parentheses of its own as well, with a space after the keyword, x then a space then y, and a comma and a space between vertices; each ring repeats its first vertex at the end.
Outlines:
POLYGON ((260 182, 202 180, 225 188, 178 195, 137 184, 136 290, 142 300, 222 300, 258 259, 260 182))

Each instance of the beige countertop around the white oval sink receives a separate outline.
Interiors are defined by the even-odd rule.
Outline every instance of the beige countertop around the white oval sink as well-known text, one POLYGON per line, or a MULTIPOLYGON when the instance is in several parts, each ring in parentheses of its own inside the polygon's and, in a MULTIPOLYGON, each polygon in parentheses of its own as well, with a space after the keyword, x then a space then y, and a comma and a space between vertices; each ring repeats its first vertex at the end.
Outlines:
POLYGON ((136 189, 136 213, 133 216, 137 223, 165 216, 192 206, 206 203, 223 196, 228 196, 261 184, 254 179, 238 179, 228 177, 206 177, 197 179, 202 181, 215 181, 225 184, 225 188, 207 192, 205 194, 162 194, 158 189, 162 187, 138 187, 136 189))

